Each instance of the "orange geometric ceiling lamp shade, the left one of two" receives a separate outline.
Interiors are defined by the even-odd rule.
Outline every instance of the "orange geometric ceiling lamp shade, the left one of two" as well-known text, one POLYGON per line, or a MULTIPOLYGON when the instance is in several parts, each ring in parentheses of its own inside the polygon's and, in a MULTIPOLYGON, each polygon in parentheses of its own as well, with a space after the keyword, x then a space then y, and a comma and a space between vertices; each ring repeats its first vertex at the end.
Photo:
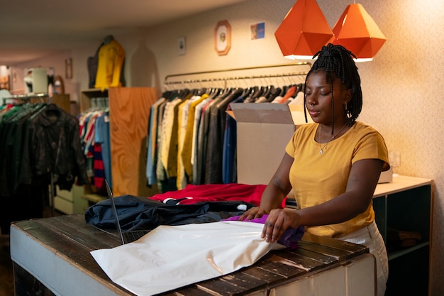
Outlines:
POLYGON ((274 32, 284 57, 311 59, 333 36, 316 0, 298 0, 274 32))

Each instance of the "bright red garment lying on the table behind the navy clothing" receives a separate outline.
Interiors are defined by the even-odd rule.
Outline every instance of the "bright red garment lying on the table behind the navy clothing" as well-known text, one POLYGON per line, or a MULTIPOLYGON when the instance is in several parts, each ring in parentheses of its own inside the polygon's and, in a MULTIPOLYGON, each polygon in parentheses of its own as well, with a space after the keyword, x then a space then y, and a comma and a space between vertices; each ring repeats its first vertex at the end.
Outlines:
MULTIPOLYGON (((260 197, 267 185, 245 185, 238 183, 229 184, 206 184, 206 185, 187 185, 182 190, 170 191, 155 194, 149 199, 163 202, 165 199, 182 199, 192 197, 191 199, 183 199, 179 204, 195 204, 196 202, 218 202, 218 201, 235 201, 250 202, 259 205, 260 197)), ((285 200, 282 202, 282 207, 285 200)))

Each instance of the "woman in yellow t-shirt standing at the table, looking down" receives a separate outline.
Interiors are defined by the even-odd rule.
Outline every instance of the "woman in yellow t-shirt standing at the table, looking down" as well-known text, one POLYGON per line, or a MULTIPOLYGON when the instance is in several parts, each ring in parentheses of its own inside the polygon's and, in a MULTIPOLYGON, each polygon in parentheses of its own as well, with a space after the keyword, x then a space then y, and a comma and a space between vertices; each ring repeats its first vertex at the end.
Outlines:
POLYGON ((389 169, 387 147, 374 128, 356 121, 362 91, 353 54, 328 44, 314 57, 304 90, 314 123, 295 131, 260 207, 240 219, 269 214, 262 238, 272 243, 289 227, 304 225, 311 234, 365 244, 377 259, 378 295, 384 295, 387 251, 372 196, 380 173, 389 169), (281 209, 292 189, 299 210, 281 209))

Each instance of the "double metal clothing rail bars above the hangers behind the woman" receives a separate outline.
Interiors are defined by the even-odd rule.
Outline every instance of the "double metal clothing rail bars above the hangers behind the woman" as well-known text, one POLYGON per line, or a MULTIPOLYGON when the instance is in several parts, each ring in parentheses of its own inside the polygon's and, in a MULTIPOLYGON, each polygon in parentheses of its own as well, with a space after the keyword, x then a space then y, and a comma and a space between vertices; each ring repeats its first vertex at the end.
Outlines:
POLYGON ((280 64, 280 65, 265 65, 265 66, 257 66, 257 67, 240 67, 240 68, 232 68, 225 70, 212 70, 212 71, 202 71, 202 72, 189 72, 189 73, 181 73, 181 74, 173 74, 167 75, 165 77, 164 86, 165 89, 169 85, 172 84, 193 84, 200 82, 227 82, 228 80, 249 80, 249 79, 261 79, 261 78, 270 78, 270 77, 292 77, 292 76, 305 76, 311 68, 310 62, 297 62, 291 64, 280 64), (263 70, 270 68, 279 68, 279 67, 299 67, 305 66, 306 70, 301 70, 299 72, 287 72, 287 73, 276 73, 276 74, 267 74, 267 75, 241 75, 241 76, 226 76, 226 77, 215 77, 215 78, 201 78, 201 79, 188 79, 188 80, 173 80, 178 77, 192 77, 196 75, 211 75, 216 73, 228 73, 235 71, 245 71, 245 70, 263 70), (170 81, 172 80, 172 81, 170 81))

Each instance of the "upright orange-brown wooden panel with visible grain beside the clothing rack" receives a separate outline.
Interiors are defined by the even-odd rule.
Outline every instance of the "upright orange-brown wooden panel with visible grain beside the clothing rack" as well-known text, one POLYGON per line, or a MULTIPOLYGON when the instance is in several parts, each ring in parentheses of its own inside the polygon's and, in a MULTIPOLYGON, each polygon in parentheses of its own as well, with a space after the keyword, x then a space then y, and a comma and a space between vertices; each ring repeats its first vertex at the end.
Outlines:
POLYGON ((146 141, 150 107, 157 101, 152 87, 109 89, 113 194, 149 196, 146 186, 146 141))

